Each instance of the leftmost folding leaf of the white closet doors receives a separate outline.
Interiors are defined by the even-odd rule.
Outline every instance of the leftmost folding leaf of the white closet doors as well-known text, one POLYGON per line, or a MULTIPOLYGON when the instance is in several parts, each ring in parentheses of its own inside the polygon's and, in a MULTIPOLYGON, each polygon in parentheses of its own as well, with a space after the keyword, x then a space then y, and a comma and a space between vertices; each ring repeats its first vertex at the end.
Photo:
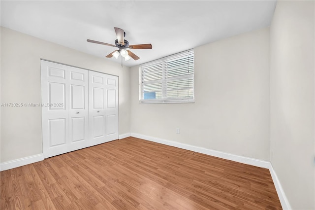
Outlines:
POLYGON ((44 158, 68 151, 67 67, 41 61, 42 138, 44 158))

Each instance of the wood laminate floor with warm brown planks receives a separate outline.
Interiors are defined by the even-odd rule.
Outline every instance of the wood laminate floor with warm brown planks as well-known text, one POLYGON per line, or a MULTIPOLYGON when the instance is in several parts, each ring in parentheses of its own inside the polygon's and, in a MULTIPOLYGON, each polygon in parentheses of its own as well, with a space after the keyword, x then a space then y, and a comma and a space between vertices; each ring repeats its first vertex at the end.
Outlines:
POLYGON ((0 209, 282 209, 268 169, 126 138, 0 173, 0 209))

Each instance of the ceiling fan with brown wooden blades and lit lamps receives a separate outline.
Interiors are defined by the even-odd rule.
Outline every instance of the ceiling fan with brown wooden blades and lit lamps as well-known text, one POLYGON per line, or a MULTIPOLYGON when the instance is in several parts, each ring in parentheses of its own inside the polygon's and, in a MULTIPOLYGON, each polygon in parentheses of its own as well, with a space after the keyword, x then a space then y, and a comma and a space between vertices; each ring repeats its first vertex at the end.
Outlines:
POLYGON ((115 40, 115 45, 114 44, 108 44, 108 43, 104 43, 104 42, 100 42, 100 41, 95 41, 95 40, 91 40, 91 39, 87 39, 88 42, 92 42, 92 43, 96 43, 96 44, 103 44, 103 45, 107 45, 107 46, 112 46, 112 47, 118 47, 118 50, 115 50, 113 52, 111 52, 110 54, 108 54, 106 56, 106 58, 111 58, 111 57, 115 57, 116 59, 118 58, 119 55, 122 56, 122 58, 125 58, 125 61, 129 60, 130 58, 132 58, 133 60, 138 60, 139 57, 137 55, 135 55, 133 52, 130 51, 130 49, 152 49, 152 44, 135 44, 135 45, 129 45, 129 42, 124 39, 126 33, 124 32, 124 30, 120 29, 120 28, 114 28, 116 35, 117 35, 117 39, 115 40))

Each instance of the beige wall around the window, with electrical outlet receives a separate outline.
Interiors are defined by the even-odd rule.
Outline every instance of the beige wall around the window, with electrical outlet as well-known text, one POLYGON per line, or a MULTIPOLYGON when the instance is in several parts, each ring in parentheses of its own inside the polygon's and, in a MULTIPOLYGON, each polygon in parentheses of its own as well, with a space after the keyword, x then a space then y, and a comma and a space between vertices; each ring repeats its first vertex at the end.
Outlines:
POLYGON ((269 160, 269 46, 265 28, 196 47, 190 104, 138 104, 131 68, 131 132, 269 160))

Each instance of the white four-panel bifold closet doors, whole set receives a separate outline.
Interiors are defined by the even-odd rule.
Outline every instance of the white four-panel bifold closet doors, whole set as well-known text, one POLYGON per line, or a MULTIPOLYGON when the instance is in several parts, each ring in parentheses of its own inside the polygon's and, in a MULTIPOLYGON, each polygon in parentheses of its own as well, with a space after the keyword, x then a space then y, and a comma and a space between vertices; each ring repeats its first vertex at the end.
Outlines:
POLYGON ((41 60, 44 158, 118 139, 118 76, 41 60))

